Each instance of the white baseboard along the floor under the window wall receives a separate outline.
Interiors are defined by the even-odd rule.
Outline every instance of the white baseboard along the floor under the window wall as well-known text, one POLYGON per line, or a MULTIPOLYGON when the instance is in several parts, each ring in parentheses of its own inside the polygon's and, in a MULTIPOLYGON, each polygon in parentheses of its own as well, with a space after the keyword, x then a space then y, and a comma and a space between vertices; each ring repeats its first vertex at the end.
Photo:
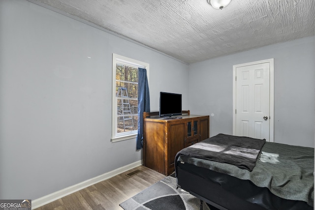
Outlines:
POLYGON ((91 186, 97 182, 100 182, 100 181, 103 181, 103 180, 107 180, 109 178, 112 178, 112 177, 115 177, 116 175, 119 175, 121 173, 124 173, 130 169, 133 169, 135 167, 138 167, 142 165, 142 160, 139 160, 139 161, 136 161, 134 163, 130 163, 126 166, 123 166, 123 167, 120 167, 118 169, 115 169, 113 171, 110 171, 110 172, 107 172, 105 174, 102 174, 102 175, 99 175, 97 177, 94 177, 92 179, 89 179, 89 180, 85 180, 85 181, 82 181, 80 183, 77 183, 75 185, 72 185, 72 186, 69 186, 69 187, 66 187, 62 190, 59 190, 57 192, 53 192, 49 195, 46 195, 46 196, 43 196, 41 198, 38 198, 38 199, 35 199, 35 200, 32 200, 32 210, 33 209, 36 209, 36 208, 39 208, 41 206, 44 206, 48 203, 51 203, 53 201, 56 201, 66 195, 69 195, 71 193, 74 193, 76 191, 79 191, 81 189, 84 189, 88 186, 91 186))

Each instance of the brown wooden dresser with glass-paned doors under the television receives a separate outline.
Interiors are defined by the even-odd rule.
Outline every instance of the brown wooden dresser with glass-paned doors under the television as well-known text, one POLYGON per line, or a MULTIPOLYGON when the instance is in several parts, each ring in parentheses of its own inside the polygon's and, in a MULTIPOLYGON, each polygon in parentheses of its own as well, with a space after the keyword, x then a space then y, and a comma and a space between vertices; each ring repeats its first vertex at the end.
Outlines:
POLYGON ((176 119, 153 116, 158 112, 144 113, 144 166, 168 176, 174 172, 178 151, 209 138, 209 116, 183 113, 188 115, 176 116, 176 119))

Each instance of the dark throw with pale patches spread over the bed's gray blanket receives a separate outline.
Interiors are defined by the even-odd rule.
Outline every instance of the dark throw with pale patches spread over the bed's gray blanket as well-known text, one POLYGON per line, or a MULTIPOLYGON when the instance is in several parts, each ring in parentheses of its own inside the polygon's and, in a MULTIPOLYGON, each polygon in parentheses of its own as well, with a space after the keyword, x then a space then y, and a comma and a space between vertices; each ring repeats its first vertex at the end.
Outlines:
POLYGON ((179 151, 175 157, 175 164, 177 164, 178 156, 184 155, 229 163, 252 171, 265 142, 265 139, 218 134, 179 151))

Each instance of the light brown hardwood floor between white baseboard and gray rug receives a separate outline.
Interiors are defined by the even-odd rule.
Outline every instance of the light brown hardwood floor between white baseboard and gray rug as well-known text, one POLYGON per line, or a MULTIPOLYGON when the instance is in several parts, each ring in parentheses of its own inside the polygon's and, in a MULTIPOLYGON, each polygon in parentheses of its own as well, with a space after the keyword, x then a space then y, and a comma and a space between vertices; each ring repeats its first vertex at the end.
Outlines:
POLYGON ((123 210, 120 203, 164 177, 147 167, 139 166, 35 210, 123 210), (136 170, 141 172, 131 177, 126 176, 136 170))

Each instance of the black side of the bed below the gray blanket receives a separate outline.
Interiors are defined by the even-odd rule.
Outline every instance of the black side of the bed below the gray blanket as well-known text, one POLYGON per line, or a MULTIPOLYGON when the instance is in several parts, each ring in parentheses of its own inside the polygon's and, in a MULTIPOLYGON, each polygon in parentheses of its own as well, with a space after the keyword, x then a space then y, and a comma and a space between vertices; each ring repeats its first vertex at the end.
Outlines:
POLYGON ((249 180, 189 163, 178 162, 176 178, 178 187, 214 207, 211 210, 313 210, 306 202, 280 198, 249 180))

